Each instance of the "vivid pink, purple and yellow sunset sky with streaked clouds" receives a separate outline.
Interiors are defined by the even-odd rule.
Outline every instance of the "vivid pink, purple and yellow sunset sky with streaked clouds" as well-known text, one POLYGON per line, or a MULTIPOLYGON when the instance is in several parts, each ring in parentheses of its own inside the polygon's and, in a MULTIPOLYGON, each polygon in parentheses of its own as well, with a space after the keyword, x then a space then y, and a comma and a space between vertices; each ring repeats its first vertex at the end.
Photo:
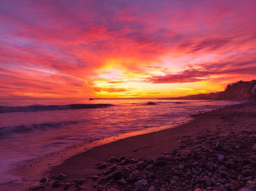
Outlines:
POLYGON ((256 78, 256 1, 0 2, 0 100, 176 97, 256 78))

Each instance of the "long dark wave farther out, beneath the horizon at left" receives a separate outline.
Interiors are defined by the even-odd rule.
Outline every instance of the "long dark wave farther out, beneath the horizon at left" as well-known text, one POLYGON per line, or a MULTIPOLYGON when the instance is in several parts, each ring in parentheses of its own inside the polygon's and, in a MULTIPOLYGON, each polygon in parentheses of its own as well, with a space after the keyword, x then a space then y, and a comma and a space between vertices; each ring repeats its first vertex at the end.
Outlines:
POLYGON ((69 104, 69 105, 27 105, 27 106, 0 106, 0 113, 8 112, 28 112, 28 111, 46 111, 46 110, 70 110, 70 109, 91 109, 106 108, 114 106, 113 104, 69 104))

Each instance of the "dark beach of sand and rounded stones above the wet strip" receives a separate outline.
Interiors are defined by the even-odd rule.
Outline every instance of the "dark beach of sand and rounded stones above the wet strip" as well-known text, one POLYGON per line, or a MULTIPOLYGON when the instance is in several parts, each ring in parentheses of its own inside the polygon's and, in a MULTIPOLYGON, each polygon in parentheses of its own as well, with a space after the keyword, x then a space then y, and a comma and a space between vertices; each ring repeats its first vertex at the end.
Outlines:
MULTIPOLYGON (((159 139, 159 149, 155 149, 155 137, 150 135, 147 145, 132 147, 129 152, 125 152, 125 145, 117 143, 120 152, 124 150, 123 156, 117 155, 120 152, 110 152, 107 160, 96 159, 98 163, 90 164, 92 171, 88 164, 81 164, 84 161, 81 157, 86 156, 79 158, 80 163, 77 158, 70 159, 49 176, 42 177, 42 185, 32 190, 256 190, 256 102, 231 105, 193 117, 192 122, 180 127, 186 127, 187 131, 179 129, 182 136, 176 137, 173 145, 171 140, 164 145, 159 139), (167 149, 172 147, 175 148, 167 149), (131 158, 131 152, 136 153, 137 158, 131 158), (150 154, 151 157, 144 157, 150 154), (81 169, 77 173, 71 172, 76 170, 75 166, 67 167, 75 164, 81 169)), ((170 136, 168 130, 163 131, 166 132, 162 139, 166 139, 165 134, 170 136)), ((135 140, 144 143, 140 136, 132 139, 136 145, 135 140)), ((97 147, 92 153, 95 151, 97 147)), ((107 157, 109 153, 105 152, 107 157)))

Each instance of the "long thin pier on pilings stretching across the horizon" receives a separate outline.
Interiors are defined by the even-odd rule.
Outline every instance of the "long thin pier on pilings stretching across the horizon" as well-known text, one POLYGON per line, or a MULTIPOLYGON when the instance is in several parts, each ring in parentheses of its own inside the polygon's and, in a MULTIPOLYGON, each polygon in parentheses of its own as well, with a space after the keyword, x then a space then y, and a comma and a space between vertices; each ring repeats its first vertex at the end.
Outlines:
POLYGON ((158 101, 158 100, 217 100, 217 98, 203 98, 203 97, 161 97, 161 98, 140 98, 140 97, 128 97, 128 98, 89 98, 89 100, 145 100, 145 101, 158 101))

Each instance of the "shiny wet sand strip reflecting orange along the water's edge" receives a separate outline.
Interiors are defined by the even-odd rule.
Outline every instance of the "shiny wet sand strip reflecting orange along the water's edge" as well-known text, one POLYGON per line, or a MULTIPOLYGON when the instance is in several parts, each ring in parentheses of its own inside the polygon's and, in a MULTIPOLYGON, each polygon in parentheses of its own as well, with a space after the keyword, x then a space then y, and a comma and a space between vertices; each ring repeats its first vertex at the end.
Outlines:
POLYGON ((93 149, 94 147, 109 144, 120 139, 129 138, 137 135, 144 135, 156 131, 162 131, 169 128, 176 128, 183 123, 187 123, 186 121, 190 119, 191 117, 186 117, 180 119, 180 122, 177 122, 175 124, 145 128, 144 130, 125 132, 107 138, 92 140, 90 142, 81 143, 73 147, 67 147, 65 150, 59 152, 54 152, 51 154, 40 156, 37 159, 31 159, 28 161, 21 162, 19 163, 19 165, 16 166, 15 169, 13 169, 13 176, 19 175, 19 177, 23 177, 22 180, 19 180, 18 183, 15 183, 15 181, 17 180, 13 180, 13 183, 1 183, 0 189, 2 188, 6 191, 13 189, 17 191, 29 190, 31 187, 35 187, 36 185, 38 185, 38 181, 41 179, 42 174, 48 176, 47 173, 50 172, 50 170, 54 166, 62 164, 63 162, 65 162, 66 159, 69 159, 70 157, 73 157, 77 154, 81 154, 82 152, 87 152, 88 150, 93 149))

